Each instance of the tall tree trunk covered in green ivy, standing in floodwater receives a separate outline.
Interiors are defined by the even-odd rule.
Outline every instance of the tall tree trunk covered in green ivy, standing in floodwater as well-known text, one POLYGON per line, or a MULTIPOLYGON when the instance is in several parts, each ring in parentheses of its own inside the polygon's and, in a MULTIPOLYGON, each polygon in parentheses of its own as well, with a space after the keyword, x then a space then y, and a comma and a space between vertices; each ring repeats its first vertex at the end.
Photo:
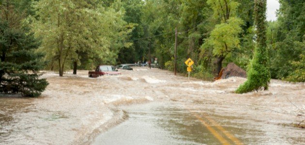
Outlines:
POLYGON ((247 81, 237 89, 237 93, 246 93, 264 88, 268 89, 271 79, 269 58, 266 50, 266 0, 255 0, 255 23, 257 28, 257 46, 247 72, 247 81))

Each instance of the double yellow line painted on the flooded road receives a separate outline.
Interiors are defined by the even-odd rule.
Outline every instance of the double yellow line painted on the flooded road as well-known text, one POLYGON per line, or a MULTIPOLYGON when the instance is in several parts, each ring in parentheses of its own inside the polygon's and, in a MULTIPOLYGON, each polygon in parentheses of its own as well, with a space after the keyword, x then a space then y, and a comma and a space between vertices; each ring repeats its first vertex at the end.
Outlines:
POLYGON ((217 138, 221 144, 223 145, 230 145, 229 141, 225 139, 218 131, 216 131, 211 125, 208 123, 212 123, 213 126, 215 126, 221 133, 225 134, 227 138, 229 138, 235 145, 243 145, 241 141, 239 141, 234 135, 229 133, 229 131, 226 131, 223 127, 221 127, 215 120, 213 120, 211 117, 200 117, 197 115, 197 113, 192 112, 190 109, 188 109, 200 122, 203 124, 212 134, 215 138, 217 138), (208 122, 206 121, 208 120, 208 122))

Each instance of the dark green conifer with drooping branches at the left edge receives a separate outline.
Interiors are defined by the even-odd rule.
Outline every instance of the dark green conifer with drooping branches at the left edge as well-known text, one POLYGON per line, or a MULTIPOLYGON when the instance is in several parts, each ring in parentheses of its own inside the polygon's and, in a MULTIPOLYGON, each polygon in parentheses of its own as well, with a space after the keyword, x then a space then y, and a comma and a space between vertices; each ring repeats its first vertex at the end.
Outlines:
POLYGON ((0 92, 37 97, 48 85, 37 74, 45 66, 44 55, 36 52, 40 42, 22 24, 12 1, 3 1, 0 11, 0 92))

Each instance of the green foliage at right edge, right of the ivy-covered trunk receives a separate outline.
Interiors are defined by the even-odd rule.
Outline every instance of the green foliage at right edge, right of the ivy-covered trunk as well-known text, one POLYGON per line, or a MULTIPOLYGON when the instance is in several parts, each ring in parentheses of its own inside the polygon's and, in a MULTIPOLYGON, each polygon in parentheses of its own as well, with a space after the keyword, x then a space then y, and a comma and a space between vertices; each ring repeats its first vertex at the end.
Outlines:
MULTIPOLYGON (((267 44, 270 71, 274 79, 285 79, 295 73, 291 61, 300 62, 305 51, 304 0, 279 0, 278 20, 268 23, 267 44)), ((289 79, 290 80, 290 79, 289 79)))

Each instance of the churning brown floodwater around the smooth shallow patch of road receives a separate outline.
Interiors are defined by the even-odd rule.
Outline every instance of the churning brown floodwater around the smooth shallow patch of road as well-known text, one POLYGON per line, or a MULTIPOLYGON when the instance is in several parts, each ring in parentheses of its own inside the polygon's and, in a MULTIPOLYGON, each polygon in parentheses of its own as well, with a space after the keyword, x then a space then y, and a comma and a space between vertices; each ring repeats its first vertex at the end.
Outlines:
MULTIPOLYGON (((146 102, 183 103, 224 122, 245 121, 259 131, 305 119, 304 83, 272 80, 267 91, 235 94, 246 79, 206 82, 147 68, 121 72, 89 78, 88 71, 64 77, 46 71, 50 85, 43 97, 0 97, 0 144, 91 144, 97 134, 128 118, 121 106, 146 102)), ((281 127, 274 135, 298 132, 281 127)))

